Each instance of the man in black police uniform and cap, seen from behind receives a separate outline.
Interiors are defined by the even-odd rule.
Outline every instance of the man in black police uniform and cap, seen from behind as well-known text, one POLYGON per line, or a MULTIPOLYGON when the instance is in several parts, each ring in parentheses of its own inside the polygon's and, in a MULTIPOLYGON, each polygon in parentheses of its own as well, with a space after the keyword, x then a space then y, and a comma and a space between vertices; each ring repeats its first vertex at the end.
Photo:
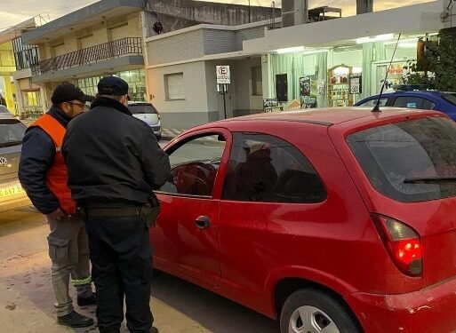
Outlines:
POLYGON ((68 127, 63 155, 68 186, 84 211, 97 289, 100 332, 152 327, 152 257, 142 212, 156 199, 153 190, 169 177, 168 155, 152 129, 128 109, 128 84, 115 76, 98 83, 91 110, 68 127))

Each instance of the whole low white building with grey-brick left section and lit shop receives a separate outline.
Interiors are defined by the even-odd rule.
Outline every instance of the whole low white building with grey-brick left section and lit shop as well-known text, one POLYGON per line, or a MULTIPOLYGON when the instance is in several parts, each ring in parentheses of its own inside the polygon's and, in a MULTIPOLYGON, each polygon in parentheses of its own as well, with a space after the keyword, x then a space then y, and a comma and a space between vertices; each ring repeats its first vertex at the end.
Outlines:
POLYGON ((154 36, 146 40, 149 99, 168 128, 222 119, 215 67, 228 65, 228 117, 263 112, 263 99, 278 99, 284 108, 353 105, 380 91, 391 59, 388 83, 402 83, 416 60, 419 38, 447 28, 452 16, 443 15, 445 4, 287 28, 271 29, 271 22, 199 25, 154 36))

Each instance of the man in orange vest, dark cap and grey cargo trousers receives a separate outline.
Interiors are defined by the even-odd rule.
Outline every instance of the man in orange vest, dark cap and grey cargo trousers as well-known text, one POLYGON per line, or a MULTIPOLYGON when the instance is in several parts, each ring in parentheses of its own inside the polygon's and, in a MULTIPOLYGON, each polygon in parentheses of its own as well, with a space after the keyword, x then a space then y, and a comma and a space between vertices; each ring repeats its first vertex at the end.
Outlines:
POLYGON ((68 122, 84 111, 85 103, 92 97, 71 83, 63 83, 52 92, 51 100, 50 110, 30 125, 23 139, 19 178, 51 229, 47 239, 57 321, 72 328, 87 327, 93 320, 76 313, 68 285, 71 276, 78 305, 96 304, 89 246, 84 223, 76 216, 76 202, 67 186, 67 165, 60 148, 68 122))

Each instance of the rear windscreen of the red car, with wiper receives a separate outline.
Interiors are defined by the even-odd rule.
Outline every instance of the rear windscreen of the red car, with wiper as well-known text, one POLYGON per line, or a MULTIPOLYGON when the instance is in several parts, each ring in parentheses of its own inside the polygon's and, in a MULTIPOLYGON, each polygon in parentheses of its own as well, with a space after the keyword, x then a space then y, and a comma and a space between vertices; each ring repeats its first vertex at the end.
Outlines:
POLYGON ((441 117, 390 123, 347 138, 372 186, 399 202, 456 196, 456 123, 441 117))

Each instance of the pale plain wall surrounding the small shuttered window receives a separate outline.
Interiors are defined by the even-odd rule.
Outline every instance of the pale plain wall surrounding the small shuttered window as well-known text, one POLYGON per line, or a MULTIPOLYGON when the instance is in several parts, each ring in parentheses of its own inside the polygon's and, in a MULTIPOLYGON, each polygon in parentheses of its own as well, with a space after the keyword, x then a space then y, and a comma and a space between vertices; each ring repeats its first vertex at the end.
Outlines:
POLYGON ((209 121, 203 61, 149 68, 148 91, 150 101, 162 114, 164 128, 187 129, 209 121), (164 75, 172 73, 184 75, 184 100, 166 100, 164 75))

